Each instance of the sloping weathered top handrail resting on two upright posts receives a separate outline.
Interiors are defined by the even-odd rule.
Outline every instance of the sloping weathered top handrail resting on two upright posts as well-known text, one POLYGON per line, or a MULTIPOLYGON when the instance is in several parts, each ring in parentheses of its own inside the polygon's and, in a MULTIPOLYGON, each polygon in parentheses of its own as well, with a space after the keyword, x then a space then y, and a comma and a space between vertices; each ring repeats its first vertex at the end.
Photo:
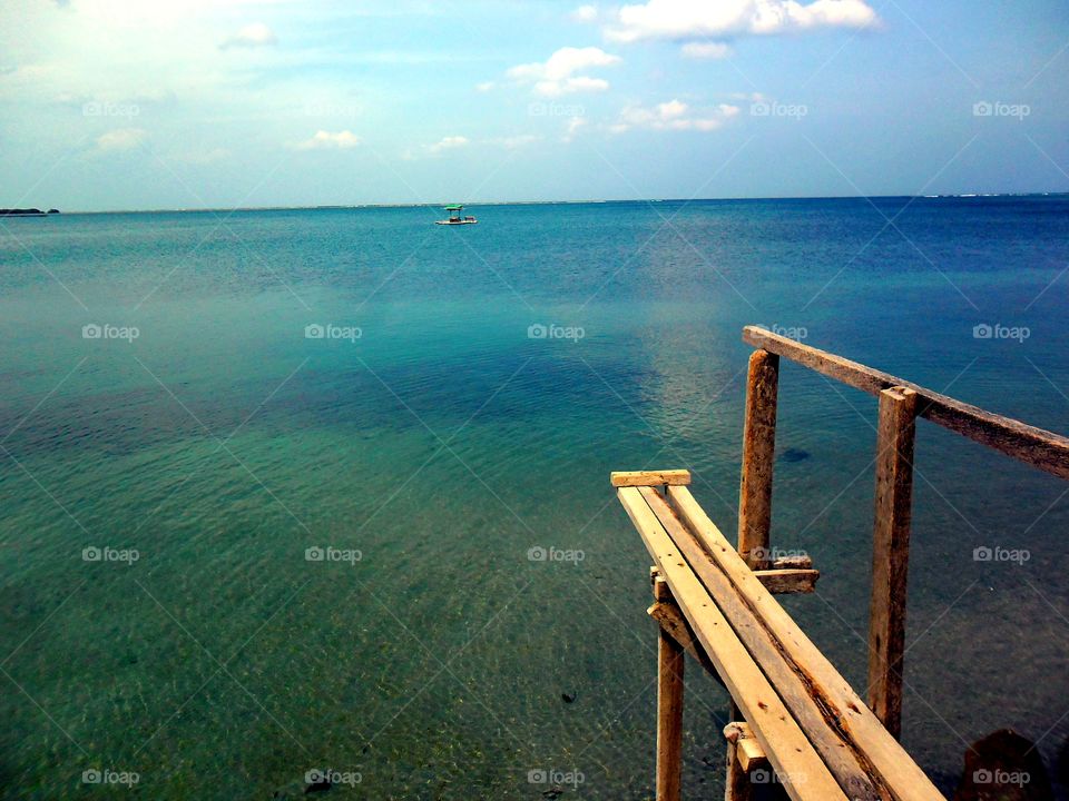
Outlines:
POLYGON ((763 328, 746 326, 743 329, 743 340, 755 348, 778 354, 870 395, 879 395, 884 389, 895 386, 909 387, 918 395, 918 416, 981 445, 1001 451, 1019 462, 1056 476, 1069 478, 1069 437, 1061 434, 992 414, 889 373, 866 367, 826 350, 802 345, 763 328))

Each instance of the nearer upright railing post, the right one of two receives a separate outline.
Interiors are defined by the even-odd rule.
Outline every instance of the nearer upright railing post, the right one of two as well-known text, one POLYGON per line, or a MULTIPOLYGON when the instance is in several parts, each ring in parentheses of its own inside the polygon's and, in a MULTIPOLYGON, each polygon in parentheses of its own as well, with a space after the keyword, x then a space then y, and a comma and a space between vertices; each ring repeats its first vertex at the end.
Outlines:
POLYGON ((880 393, 869 606, 869 705, 895 738, 902 733, 902 659, 915 431, 916 394, 905 387, 880 393))

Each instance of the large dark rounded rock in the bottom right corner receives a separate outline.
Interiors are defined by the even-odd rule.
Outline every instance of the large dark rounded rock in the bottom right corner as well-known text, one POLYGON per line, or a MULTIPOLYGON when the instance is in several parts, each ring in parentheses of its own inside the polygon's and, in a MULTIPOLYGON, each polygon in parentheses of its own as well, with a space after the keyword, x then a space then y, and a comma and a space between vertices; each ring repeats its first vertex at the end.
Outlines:
POLYGON ((965 752, 954 801, 1050 801, 1053 792, 1036 745, 1011 729, 978 740, 965 752))

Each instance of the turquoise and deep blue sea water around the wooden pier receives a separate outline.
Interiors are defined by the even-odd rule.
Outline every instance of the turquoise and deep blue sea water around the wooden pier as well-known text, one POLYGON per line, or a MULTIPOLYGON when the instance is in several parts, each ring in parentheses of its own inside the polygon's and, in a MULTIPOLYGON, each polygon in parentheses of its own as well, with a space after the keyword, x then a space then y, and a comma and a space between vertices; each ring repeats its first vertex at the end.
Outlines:
MULTIPOLYGON (((687 467, 734 531, 744 325, 1069 431, 1067 198, 473 212, 0 224, 4 798, 651 798, 608 473, 687 467)), ((863 693, 875 402, 781 387, 773 542, 823 572, 784 604, 863 693)), ((1003 726, 1065 770, 1067 485, 928 423, 918 469, 903 742, 948 793, 1003 726)), ((726 698, 687 692, 719 797, 726 698)))

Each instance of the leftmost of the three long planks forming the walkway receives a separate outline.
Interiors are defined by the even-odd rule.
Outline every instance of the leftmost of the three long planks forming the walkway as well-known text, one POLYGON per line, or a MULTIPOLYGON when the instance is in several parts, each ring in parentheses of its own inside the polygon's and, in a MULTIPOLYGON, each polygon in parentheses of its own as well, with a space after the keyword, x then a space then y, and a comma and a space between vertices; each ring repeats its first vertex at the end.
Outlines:
MULTIPOLYGON (((827 767, 635 487, 617 496, 794 801, 844 801, 827 767)), ((755 578, 754 582, 757 580, 755 578)))

